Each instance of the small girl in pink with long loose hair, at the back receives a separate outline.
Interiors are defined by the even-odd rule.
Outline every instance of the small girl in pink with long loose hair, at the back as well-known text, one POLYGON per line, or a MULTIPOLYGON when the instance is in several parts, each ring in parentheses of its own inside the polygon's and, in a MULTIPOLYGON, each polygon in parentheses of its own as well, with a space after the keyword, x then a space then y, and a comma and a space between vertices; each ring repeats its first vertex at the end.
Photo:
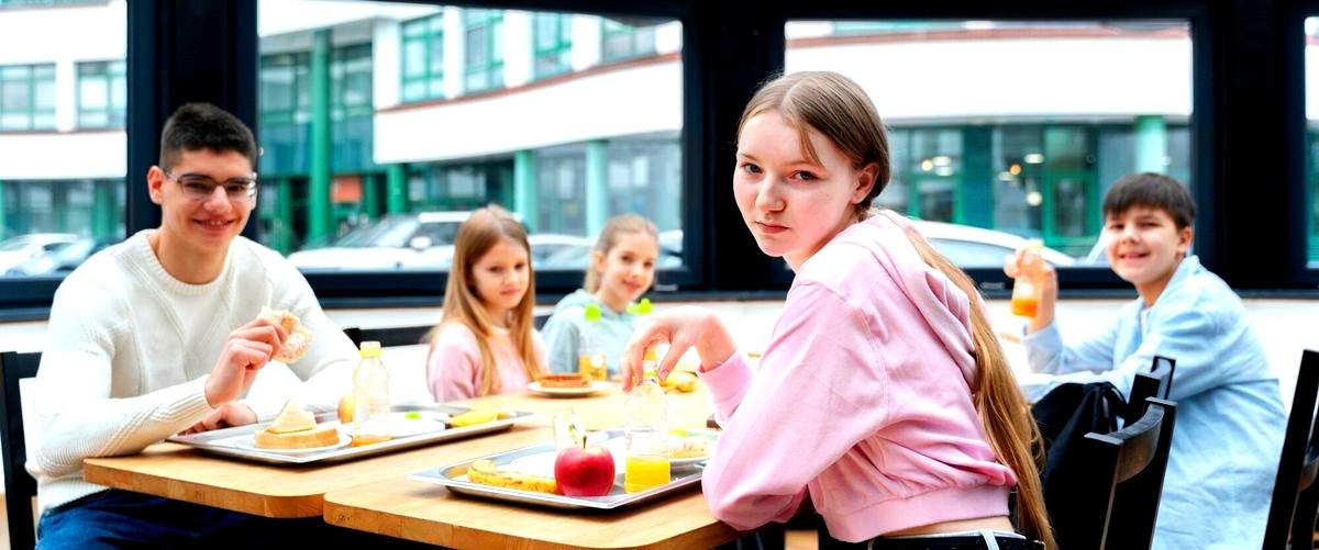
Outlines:
POLYGON ((454 238, 445 314, 430 336, 426 386, 435 400, 517 392, 539 378, 534 305, 526 229, 499 207, 472 212, 454 238))

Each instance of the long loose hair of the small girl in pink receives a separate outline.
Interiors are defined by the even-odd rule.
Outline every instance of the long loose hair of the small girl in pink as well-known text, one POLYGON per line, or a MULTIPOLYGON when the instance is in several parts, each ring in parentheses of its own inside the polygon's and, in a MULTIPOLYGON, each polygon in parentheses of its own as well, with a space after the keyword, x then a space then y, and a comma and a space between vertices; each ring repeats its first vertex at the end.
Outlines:
MULTIPOLYGON (((476 347, 481 353, 481 387, 479 395, 499 393, 500 375, 491 351, 489 338, 495 334, 495 325, 476 295, 472 280, 472 266, 481 259, 501 239, 512 241, 522 246, 528 255, 528 282, 526 293, 522 301, 517 303, 509 312, 508 333, 513 341, 513 347, 522 358, 526 376, 532 380, 545 374, 539 357, 536 354, 536 343, 532 336, 536 307, 536 270, 532 262, 532 246, 526 239, 526 229, 522 224, 508 213, 508 211, 491 205, 472 212, 472 216, 458 228, 454 238, 454 264, 448 271, 448 284, 445 287, 445 313, 441 324, 431 332, 429 341, 434 342, 441 326, 446 322, 460 322, 476 336, 476 347)), ((431 345, 434 351, 434 345, 431 345)), ((427 358, 427 363, 430 359, 427 358)))

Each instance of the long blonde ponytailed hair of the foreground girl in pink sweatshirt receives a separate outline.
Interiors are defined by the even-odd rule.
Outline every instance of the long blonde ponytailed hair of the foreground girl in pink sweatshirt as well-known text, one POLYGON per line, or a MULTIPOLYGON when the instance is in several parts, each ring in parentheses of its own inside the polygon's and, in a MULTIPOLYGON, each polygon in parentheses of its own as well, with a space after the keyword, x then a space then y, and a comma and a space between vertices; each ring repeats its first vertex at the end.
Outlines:
MULTIPOLYGON (((748 120, 769 111, 778 112, 789 125, 797 128, 802 149, 811 162, 819 162, 819 157, 807 137, 809 130, 832 141, 855 167, 871 163, 878 167, 874 186, 855 207, 856 218, 864 218, 890 176, 888 136, 865 91, 836 72, 778 76, 761 86, 752 96, 743 111, 737 134, 741 136, 741 128, 748 120)), ((980 291, 966 272, 934 250, 923 237, 910 228, 904 228, 904 232, 921 259, 942 271, 971 299, 971 339, 976 359, 972 401, 995 455, 1017 476, 1018 529, 1054 549, 1057 543, 1039 482, 1039 464, 1043 463, 1043 446, 1037 445, 1039 428, 984 312, 980 291)))

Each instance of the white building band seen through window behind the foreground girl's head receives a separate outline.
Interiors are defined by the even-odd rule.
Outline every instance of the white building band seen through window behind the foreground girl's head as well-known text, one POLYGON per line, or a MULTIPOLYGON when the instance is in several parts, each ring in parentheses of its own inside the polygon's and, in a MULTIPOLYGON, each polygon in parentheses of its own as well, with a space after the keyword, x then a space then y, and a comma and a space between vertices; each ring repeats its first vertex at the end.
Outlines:
POLYGON ((888 122, 1191 112, 1188 38, 791 47, 786 70, 828 70, 852 78, 888 122))

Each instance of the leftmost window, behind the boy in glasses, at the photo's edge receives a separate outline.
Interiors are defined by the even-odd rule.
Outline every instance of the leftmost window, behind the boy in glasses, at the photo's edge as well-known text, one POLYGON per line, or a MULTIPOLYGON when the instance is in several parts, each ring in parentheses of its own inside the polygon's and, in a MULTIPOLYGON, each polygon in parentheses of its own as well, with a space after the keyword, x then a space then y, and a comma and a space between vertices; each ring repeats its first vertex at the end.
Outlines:
POLYGON ((63 276, 124 238, 127 41, 123 1, 0 7, 0 283, 9 284, 63 276), (69 30, 88 25, 99 33, 69 30))

